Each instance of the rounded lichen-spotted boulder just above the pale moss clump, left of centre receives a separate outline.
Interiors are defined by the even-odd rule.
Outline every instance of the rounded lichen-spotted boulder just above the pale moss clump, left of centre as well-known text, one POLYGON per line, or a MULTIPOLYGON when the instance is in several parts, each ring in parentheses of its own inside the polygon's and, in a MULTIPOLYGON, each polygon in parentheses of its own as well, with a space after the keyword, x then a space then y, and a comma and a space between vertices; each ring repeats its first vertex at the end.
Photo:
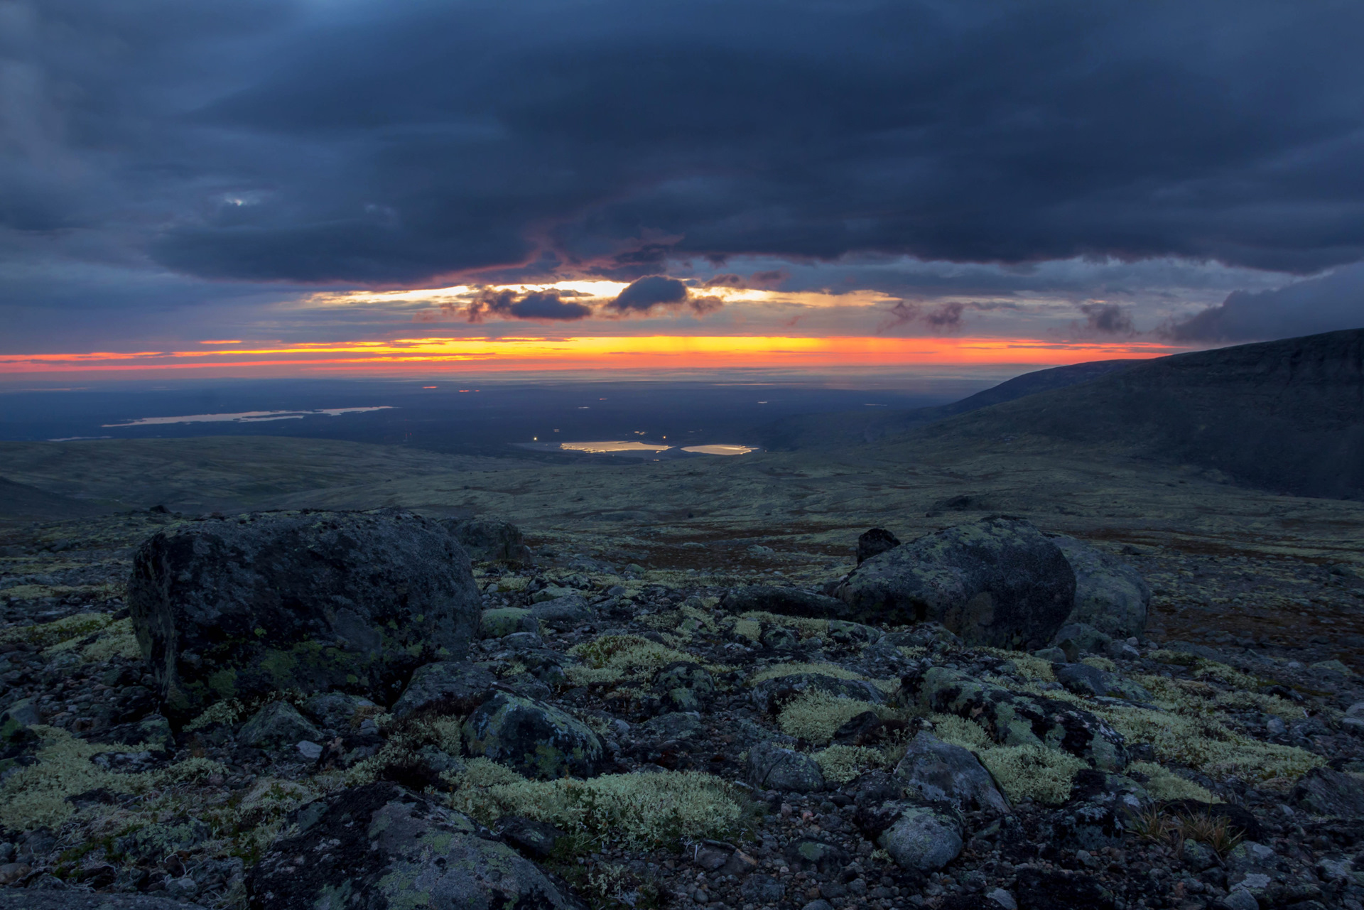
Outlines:
POLYGON ((602 741, 582 722, 506 692, 475 708, 461 733, 471 756, 527 778, 587 778, 602 763, 602 741))

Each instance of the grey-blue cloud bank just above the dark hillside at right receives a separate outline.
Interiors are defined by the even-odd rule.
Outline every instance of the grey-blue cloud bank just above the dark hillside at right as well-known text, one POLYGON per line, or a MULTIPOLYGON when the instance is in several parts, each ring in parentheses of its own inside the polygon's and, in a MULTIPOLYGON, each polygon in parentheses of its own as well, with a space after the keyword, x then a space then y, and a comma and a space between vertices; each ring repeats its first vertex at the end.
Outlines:
POLYGON ((1364 327, 1364 263, 1271 291, 1233 291, 1215 307, 1174 322, 1174 341, 1271 341, 1364 327))

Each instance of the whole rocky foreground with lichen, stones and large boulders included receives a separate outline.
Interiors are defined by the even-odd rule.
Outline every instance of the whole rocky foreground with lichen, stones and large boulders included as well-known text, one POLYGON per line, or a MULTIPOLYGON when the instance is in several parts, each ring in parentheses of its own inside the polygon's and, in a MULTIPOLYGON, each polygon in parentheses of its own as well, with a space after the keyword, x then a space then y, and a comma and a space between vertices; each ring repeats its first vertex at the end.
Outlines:
POLYGON ((792 580, 113 524, 0 553, 4 906, 1364 907, 1350 669, 1150 640, 1118 548, 990 518, 792 580))

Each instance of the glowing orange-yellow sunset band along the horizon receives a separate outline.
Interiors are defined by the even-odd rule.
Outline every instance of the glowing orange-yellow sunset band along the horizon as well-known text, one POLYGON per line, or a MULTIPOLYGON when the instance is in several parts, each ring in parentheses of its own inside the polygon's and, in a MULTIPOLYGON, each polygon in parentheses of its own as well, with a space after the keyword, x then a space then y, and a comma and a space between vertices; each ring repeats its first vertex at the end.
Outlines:
MULTIPOLYGON (((206 342, 206 344, 224 344, 206 342)), ((885 338, 787 336, 584 336, 397 338, 337 344, 250 344, 231 349, 94 351, 0 355, 0 374, 195 371, 201 375, 391 374, 435 370, 829 368, 930 364, 1035 364, 1158 357, 1154 342, 1038 338, 885 338)))

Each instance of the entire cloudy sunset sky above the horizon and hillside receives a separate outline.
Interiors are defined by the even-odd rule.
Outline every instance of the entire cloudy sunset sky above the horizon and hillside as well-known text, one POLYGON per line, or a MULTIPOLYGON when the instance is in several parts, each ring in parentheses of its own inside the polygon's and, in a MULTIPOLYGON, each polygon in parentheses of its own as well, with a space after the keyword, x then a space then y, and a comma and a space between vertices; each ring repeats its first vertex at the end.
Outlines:
POLYGON ((1360 327, 1360 34, 1331 0, 0 0, 0 377, 1360 327))

